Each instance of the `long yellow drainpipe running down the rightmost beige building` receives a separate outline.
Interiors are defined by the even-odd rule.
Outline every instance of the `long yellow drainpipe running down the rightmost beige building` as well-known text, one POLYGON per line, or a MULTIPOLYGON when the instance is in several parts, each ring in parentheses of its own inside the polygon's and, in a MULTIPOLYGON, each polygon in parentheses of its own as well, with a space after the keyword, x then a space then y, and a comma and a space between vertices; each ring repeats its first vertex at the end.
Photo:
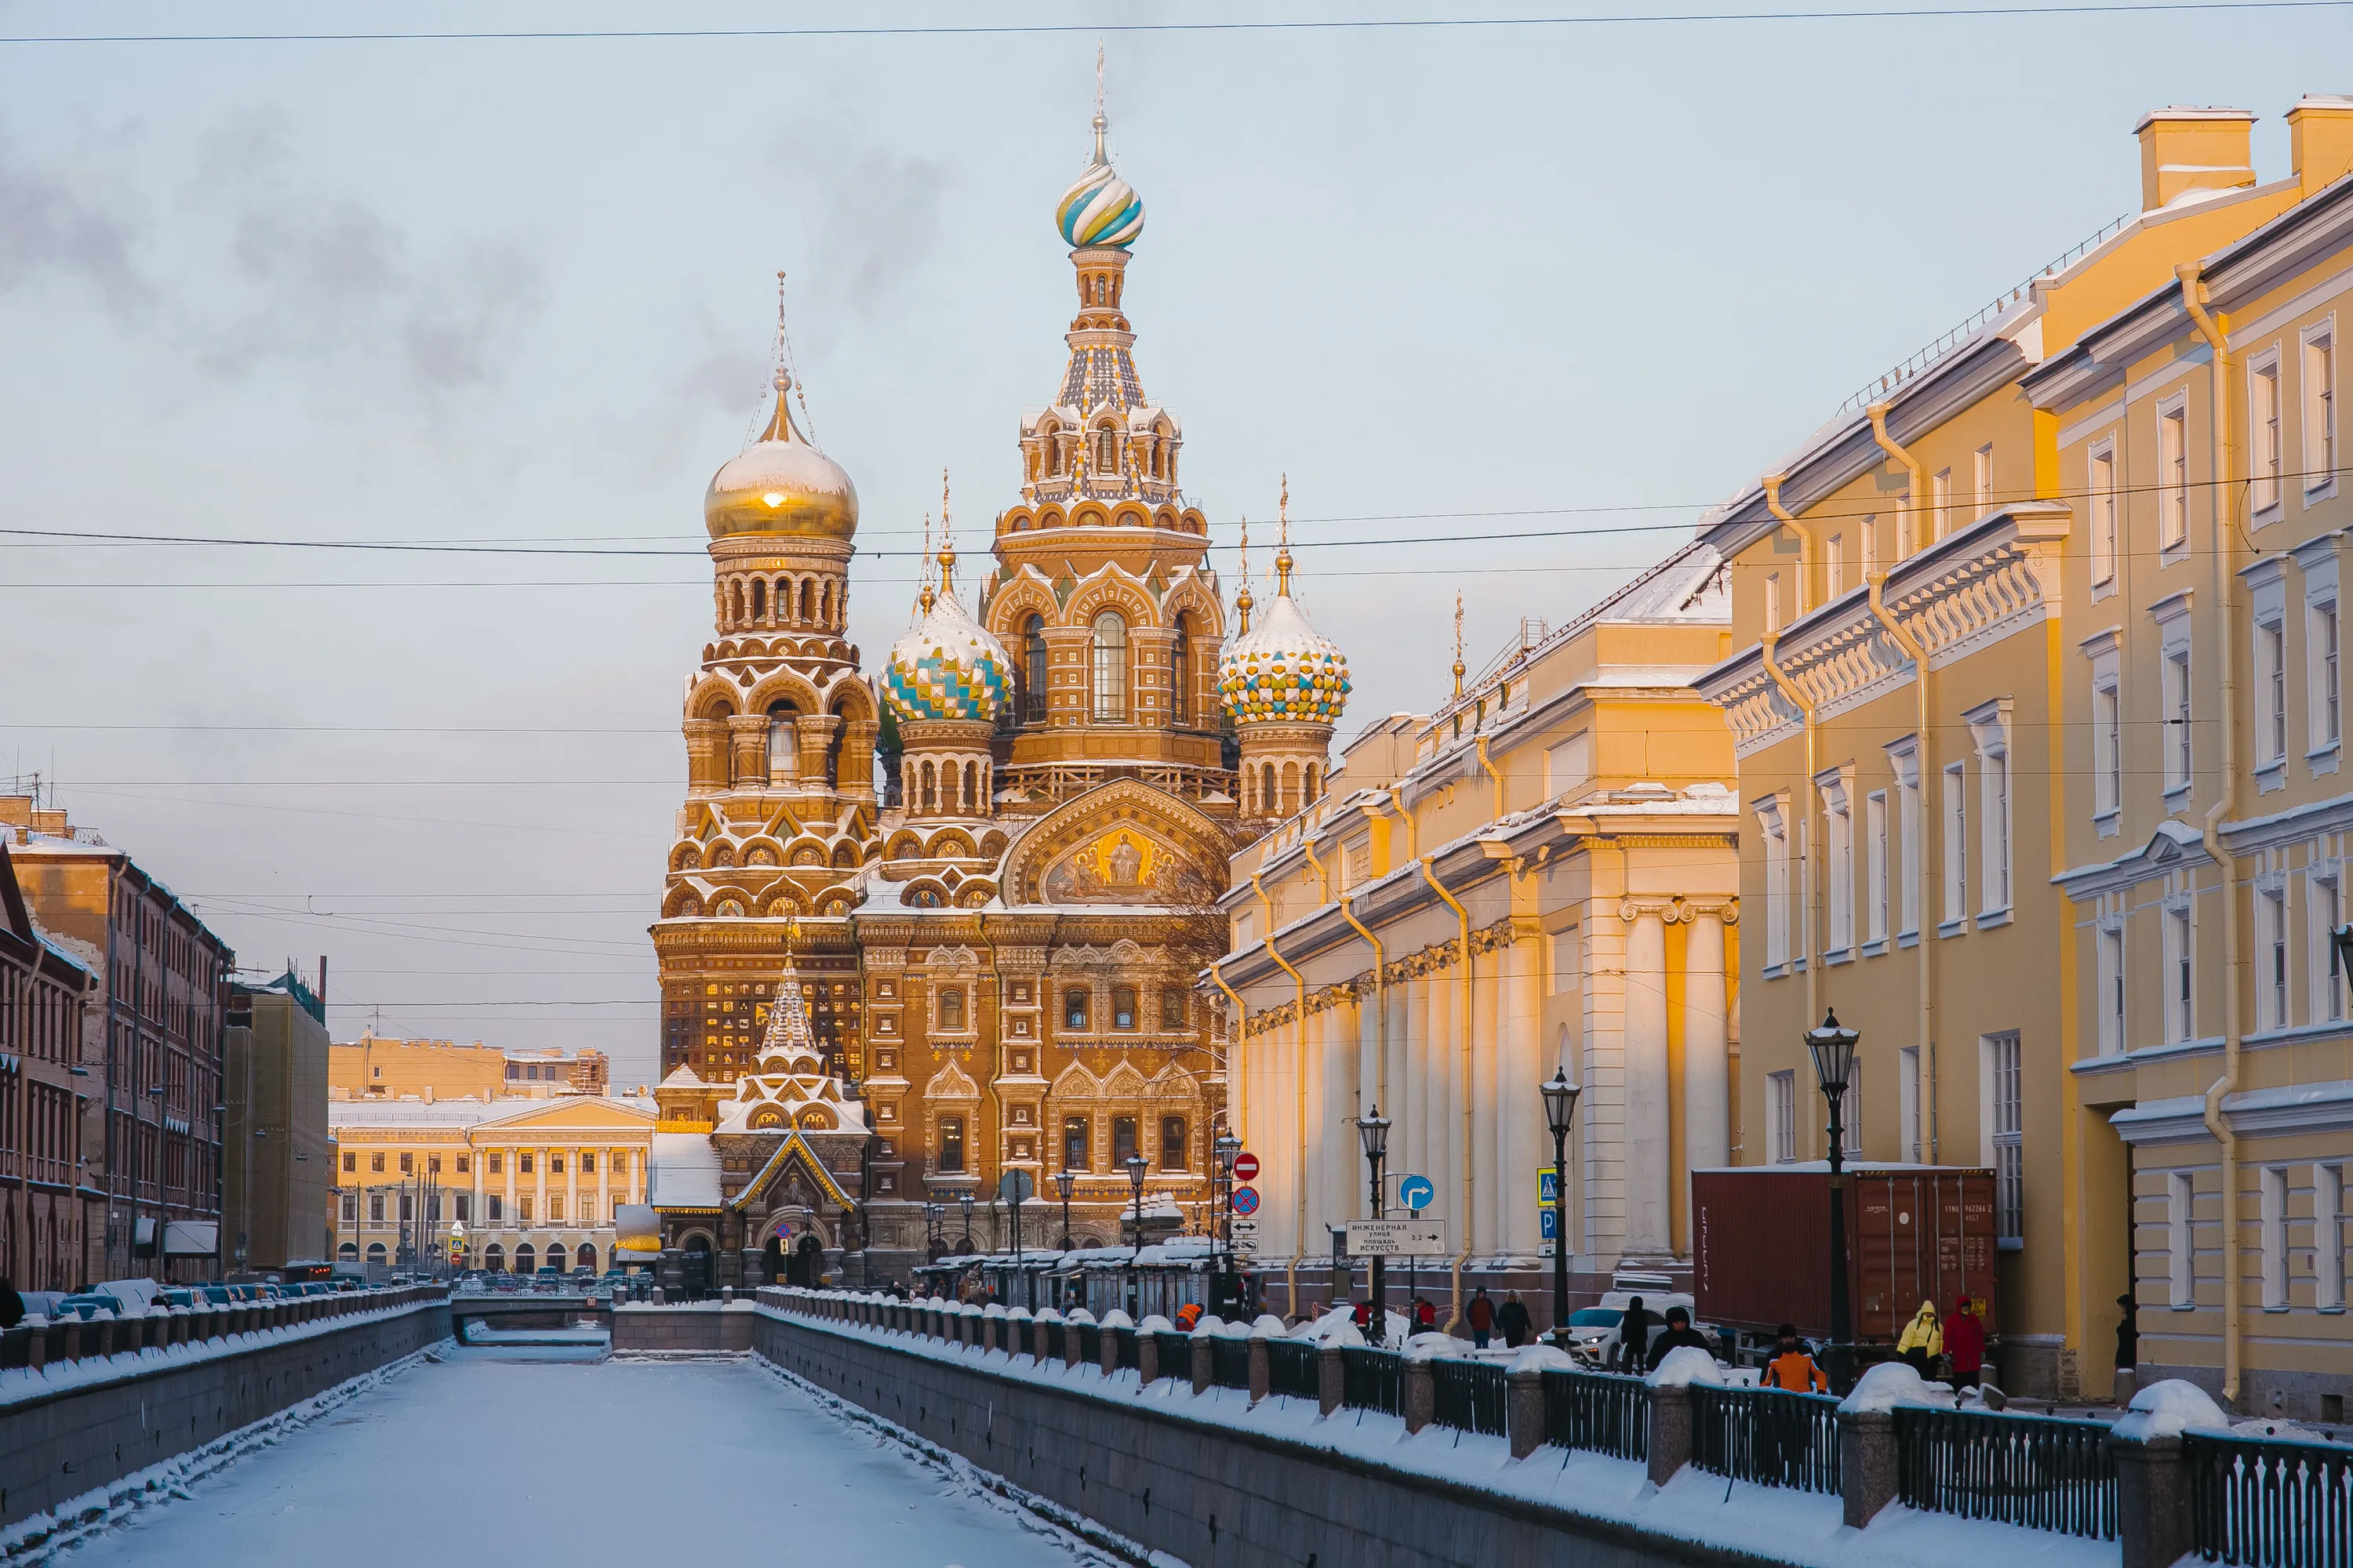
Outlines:
POLYGON ((2198 334, 2212 353, 2212 364, 2207 367, 2212 378, 2207 423, 2214 430, 2214 642, 2221 675, 2221 757, 2217 771, 2221 783, 2214 790, 2214 804, 2207 809, 2200 830, 2207 853, 2221 867, 2224 990, 2221 1077, 2207 1084, 2205 1124, 2214 1133, 2214 1143, 2221 1145, 2221 1399, 2226 1406, 2235 1406, 2242 1333, 2240 1298, 2245 1295, 2245 1281, 2238 1276, 2238 1135, 2221 1114, 2224 1095, 2238 1088, 2238 997, 2240 971, 2245 969, 2238 945, 2238 860, 2221 842, 2221 823, 2238 802, 2238 762, 2233 757, 2238 750, 2238 644, 2231 635, 2231 578, 2238 541, 2231 505, 2238 484, 2231 480, 2231 341, 2224 336, 2221 322, 2207 313, 2207 287, 2200 266, 2184 261, 2174 273, 2181 277, 2181 308, 2188 310, 2191 322, 2198 324, 2198 334))

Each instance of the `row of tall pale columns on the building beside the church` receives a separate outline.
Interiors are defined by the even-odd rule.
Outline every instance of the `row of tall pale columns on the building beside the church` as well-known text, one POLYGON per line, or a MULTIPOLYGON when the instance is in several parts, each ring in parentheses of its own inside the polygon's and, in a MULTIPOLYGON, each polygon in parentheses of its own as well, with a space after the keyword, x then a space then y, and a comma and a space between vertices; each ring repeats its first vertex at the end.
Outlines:
POLYGON ((1388 1213, 1405 1213, 1398 1178, 1424 1175, 1438 1192, 1424 1218, 1447 1225, 1449 1253, 1532 1265, 1539 1175, 1553 1161, 1539 1086, 1555 1065, 1584 1086, 1569 1246, 1605 1265, 1687 1251, 1680 1173, 1732 1161, 1727 907, 1671 898, 1588 914, 1586 973, 1553 983, 1584 983, 1584 1030, 1565 1027, 1555 1048, 1541 1039, 1548 969, 1534 919, 1475 954, 1468 987, 1459 957, 1388 983, 1386 997, 1362 976, 1337 1006, 1249 1037, 1245 1138, 1268 1175, 1261 1260, 1322 1258, 1329 1227, 1369 1213, 1355 1119, 1379 1105, 1388 1213), (1675 924, 1680 966, 1668 961, 1675 924))

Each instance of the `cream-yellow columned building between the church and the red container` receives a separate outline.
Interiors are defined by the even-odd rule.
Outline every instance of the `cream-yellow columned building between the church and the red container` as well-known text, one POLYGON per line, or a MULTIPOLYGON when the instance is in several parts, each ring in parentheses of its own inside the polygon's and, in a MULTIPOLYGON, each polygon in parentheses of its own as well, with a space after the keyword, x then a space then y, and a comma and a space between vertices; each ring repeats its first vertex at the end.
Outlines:
MULTIPOLYGON (((1544 1316, 1539 1084, 1558 1067, 1584 1086, 1577 1288, 1619 1265, 1687 1281, 1685 1173, 1741 1138, 1739 799, 1692 689, 1727 637, 1722 559, 1692 543, 1560 630, 1522 623, 1478 677, 1457 644, 1438 712, 1372 724, 1320 799, 1233 856, 1209 978, 1240 1018, 1233 1117, 1285 1309, 1322 1300, 1306 1269, 1369 1215, 1355 1119, 1379 1110, 1386 1206, 1395 1178, 1431 1180, 1452 1312, 1480 1284, 1534 1286, 1544 1316)), ((1402 1305, 1402 1269, 1391 1286, 1402 1305)))

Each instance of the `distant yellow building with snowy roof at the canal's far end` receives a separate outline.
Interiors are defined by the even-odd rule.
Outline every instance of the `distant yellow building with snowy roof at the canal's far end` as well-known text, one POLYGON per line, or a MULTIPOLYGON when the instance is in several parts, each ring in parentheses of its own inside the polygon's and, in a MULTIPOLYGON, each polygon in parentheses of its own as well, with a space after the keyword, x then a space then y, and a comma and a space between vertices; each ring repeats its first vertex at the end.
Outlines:
POLYGON ((649 1098, 334 1100, 327 1112, 341 1262, 602 1272, 614 1208, 647 1201, 649 1098))

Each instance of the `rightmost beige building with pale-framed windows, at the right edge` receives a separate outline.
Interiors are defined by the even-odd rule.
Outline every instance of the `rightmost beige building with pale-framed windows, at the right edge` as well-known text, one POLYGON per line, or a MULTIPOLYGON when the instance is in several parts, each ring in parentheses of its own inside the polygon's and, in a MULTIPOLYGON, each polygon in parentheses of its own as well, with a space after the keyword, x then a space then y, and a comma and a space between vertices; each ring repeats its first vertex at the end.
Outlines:
POLYGON ((2078 515, 2061 592, 2080 611, 2052 658, 2082 1185, 2104 1222, 2129 1213, 2144 1378, 2341 1420, 2353 181, 2329 181, 2353 165, 2353 101, 2299 103, 2289 129, 2280 216, 2024 388, 2078 515))

